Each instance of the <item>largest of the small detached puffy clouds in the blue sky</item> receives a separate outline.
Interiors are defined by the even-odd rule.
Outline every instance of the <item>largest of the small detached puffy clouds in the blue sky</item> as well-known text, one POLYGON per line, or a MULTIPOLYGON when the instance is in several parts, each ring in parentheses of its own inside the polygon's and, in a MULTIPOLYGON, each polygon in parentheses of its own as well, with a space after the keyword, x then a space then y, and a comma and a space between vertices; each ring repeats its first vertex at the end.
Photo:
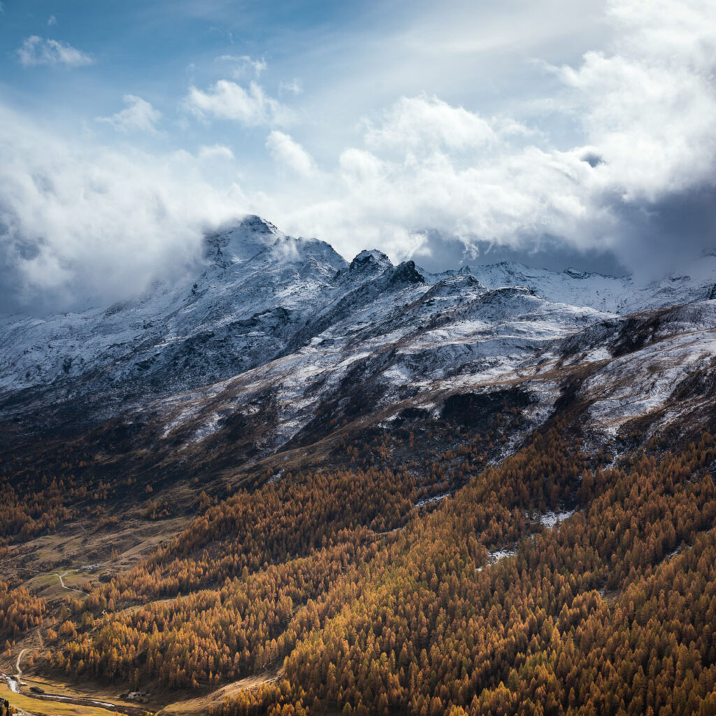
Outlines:
POLYGON ((190 87, 186 105, 199 117, 211 115, 223 120, 236 120, 249 127, 280 124, 289 117, 289 111, 272 99, 263 88, 251 82, 248 89, 228 79, 220 79, 208 92, 190 87))

